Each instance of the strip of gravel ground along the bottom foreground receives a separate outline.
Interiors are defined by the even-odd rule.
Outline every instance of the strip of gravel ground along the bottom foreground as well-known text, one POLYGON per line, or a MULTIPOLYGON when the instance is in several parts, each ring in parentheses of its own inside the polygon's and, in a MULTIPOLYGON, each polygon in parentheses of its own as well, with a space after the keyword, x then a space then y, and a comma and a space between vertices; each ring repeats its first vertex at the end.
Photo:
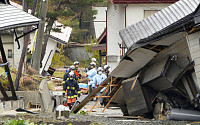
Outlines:
POLYGON ((35 123, 48 123, 54 125, 67 125, 72 123, 72 125, 194 125, 198 123, 186 122, 186 121, 158 121, 149 119, 124 119, 124 118, 106 118, 104 116, 89 116, 72 114, 69 119, 56 119, 55 114, 24 114, 17 116, 3 116, 0 117, 0 125, 8 119, 19 119, 24 120, 29 119, 31 122, 35 123))

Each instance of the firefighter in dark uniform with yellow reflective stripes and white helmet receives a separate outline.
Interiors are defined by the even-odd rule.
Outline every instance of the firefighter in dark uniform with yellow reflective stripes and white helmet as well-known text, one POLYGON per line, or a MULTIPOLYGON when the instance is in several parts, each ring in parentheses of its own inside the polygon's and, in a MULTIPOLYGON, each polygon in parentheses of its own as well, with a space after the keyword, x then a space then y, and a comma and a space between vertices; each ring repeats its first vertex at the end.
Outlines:
POLYGON ((77 97, 80 97, 81 91, 79 89, 78 83, 74 80, 74 72, 69 73, 69 79, 63 83, 63 97, 65 96, 65 92, 67 93, 67 103, 65 106, 69 106, 71 110, 72 106, 76 102, 77 97))

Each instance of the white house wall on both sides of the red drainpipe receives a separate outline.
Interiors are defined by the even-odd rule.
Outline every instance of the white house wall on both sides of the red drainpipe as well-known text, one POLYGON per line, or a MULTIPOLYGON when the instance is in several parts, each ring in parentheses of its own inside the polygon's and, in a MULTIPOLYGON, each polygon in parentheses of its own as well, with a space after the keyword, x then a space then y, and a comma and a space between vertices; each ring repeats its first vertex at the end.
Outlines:
MULTIPOLYGON (((126 26, 143 20, 145 17, 145 10, 161 10, 169 5, 170 4, 130 4, 126 7, 126 26)), ((107 63, 111 66, 111 71, 118 65, 120 55, 122 55, 118 43, 122 43, 119 37, 119 31, 125 28, 125 6, 126 5, 112 3, 108 5, 107 63)))

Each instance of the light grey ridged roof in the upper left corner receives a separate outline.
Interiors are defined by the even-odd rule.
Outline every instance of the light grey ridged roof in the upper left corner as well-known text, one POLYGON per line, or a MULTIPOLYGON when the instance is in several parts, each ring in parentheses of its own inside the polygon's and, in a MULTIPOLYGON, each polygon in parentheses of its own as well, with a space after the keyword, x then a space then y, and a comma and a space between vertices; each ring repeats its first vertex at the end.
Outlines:
POLYGON ((8 4, 0 3, 0 30, 35 25, 39 19, 8 4))

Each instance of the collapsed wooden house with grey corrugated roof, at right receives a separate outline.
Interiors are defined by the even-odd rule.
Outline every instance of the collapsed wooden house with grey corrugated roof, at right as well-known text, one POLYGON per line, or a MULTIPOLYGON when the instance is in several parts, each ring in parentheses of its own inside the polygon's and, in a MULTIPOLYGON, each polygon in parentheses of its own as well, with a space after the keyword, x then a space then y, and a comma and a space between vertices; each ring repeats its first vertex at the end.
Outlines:
POLYGON ((180 0, 120 30, 128 51, 108 78, 115 81, 107 79, 102 85, 122 87, 105 100, 124 115, 158 118, 173 111, 198 114, 200 120, 199 24, 200 0, 180 0))

